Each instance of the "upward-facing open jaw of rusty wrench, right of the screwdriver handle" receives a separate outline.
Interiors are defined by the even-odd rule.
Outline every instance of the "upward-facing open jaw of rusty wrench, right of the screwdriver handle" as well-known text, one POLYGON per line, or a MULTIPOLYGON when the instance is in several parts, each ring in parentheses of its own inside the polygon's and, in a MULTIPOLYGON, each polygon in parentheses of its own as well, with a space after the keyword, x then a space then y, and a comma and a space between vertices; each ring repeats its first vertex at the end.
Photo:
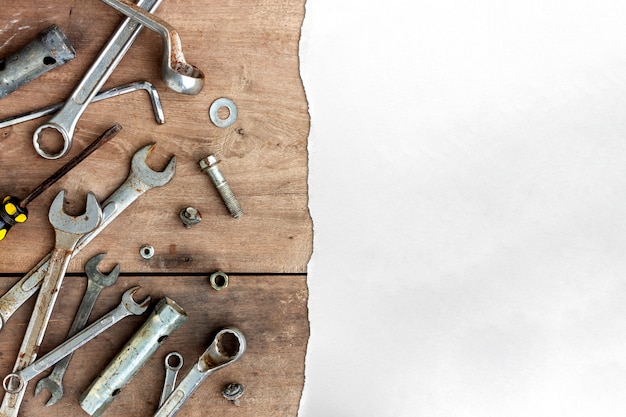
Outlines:
POLYGON ((76 235, 89 233, 98 227, 102 220, 102 209, 92 192, 87 194, 85 213, 81 216, 66 214, 63 210, 64 200, 65 190, 61 190, 50 206, 48 219, 55 230, 76 235))

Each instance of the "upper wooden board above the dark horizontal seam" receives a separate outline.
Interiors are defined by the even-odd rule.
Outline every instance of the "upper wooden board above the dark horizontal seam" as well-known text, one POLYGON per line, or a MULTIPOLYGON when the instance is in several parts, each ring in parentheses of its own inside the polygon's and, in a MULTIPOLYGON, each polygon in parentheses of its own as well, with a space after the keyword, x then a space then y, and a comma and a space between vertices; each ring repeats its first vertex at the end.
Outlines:
MULTIPOLYGON (((125 179, 130 158, 157 142, 149 163, 161 169, 176 155, 175 178, 142 196, 71 263, 82 271, 87 259, 106 251, 133 272, 302 273, 311 254, 312 225, 307 208, 309 116, 299 75, 298 42, 304 1, 257 2, 164 0, 157 12, 176 27, 186 59, 203 69, 206 86, 197 96, 168 90, 160 80, 162 44, 147 29, 105 85, 148 80, 158 89, 165 125, 154 121, 148 96, 136 92, 93 103, 78 123, 73 156, 114 123, 123 131, 52 189, 29 205, 30 220, 0 244, 0 271, 25 272, 54 246, 47 211, 56 193, 68 191, 68 211, 83 210, 85 194, 100 201, 125 179), (219 97, 236 103, 239 116, 228 128, 208 115, 219 97), (245 215, 228 215, 198 160, 214 153, 245 215), (202 213, 185 229, 178 212, 202 213), (155 257, 143 260, 144 243, 155 257)), ((49 24, 57 23, 77 57, 0 100, 0 118, 63 101, 82 78, 122 17, 97 0, 25 0, 0 8, 0 56, 19 49, 49 24)), ((39 157, 32 134, 44 120, 0 129, 0 192, 26 195, 69 157, 39 157)))

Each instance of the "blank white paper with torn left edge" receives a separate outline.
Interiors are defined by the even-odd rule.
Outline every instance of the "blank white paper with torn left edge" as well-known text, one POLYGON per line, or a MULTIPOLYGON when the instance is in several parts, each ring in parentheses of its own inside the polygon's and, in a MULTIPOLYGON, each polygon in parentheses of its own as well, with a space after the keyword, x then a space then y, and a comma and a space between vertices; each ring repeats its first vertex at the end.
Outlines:
POLYGON ((626 3, 306 9, 300 417, 624 416, 626 3))

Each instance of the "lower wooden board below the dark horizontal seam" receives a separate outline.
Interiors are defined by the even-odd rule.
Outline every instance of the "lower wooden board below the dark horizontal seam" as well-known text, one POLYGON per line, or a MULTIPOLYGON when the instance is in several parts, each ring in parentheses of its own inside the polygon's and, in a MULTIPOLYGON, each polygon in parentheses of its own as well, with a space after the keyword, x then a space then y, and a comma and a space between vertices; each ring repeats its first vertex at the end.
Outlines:
MULTIPOLYGON (((6 291, 11 280, 0 281, 6 291)), ((59 294, 42 353, 60 343, 78 307, 86 279, 67 277, 59 294)), ((207 378, 181 411, 182 416, 295 416, 304 383, 304 355, 308 340, 305 275, 230 276, 229 286, 213 290, 200 276, 121 277, 103 291, 92 320, 120 302, 123 291, 141 285, 137 299, 151 295, 153 305, 168 296, 185 309, 187 322, 163 344, 115 399, 105 415, 151 416, 157 408, 164 378, 163 359, 171 351, 184 357, 180 376, 208 347, 212 333, 236 326, 246 336, 242 359, 207 378), (221 396, 221 388, 237 381, 245 386, 239 407, 221 396)), ((32 308, 20 309, 0 332, 0 375, 11 371, 32 308)), ((65 376, 65 396, 45 407, 48 394, 34 397, 36 380, 27 387, 20 415, 82 416, 78 398, 124 343, 141 326, 148 313, 129 317, 76 352, 65 376)))

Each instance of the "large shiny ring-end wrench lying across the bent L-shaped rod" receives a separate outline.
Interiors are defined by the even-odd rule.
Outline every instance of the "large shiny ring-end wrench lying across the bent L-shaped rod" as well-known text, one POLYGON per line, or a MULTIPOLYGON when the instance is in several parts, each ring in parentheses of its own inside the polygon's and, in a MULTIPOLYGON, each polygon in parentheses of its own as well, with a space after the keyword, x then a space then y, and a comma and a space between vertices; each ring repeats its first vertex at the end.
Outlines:
MULTIPOLYGON (((137 7, 154 12, 161 3, 161 0, 139 0, 137 7)), ((55 114, 47 123, 39 126, 33 134, 33 145, 37 153, 46 159, 58 159, 67 154, 72 146, 74 129, 78 119, 85 112, 91 99, 100 91, 109 78, 117 64, 126 54, 135 38, 139 35, 142 26, 131 20, 124 19, 117 31, 113 34, 109 42, 100 52, 91 68, 85 73, 81 82, 76 86, 70 98, 65 102, 63 108, 55 114), (63 136, 63 147, 58 153, 48 153, 44 150, 39 139, 46 129, 54 129, 63 136)))

